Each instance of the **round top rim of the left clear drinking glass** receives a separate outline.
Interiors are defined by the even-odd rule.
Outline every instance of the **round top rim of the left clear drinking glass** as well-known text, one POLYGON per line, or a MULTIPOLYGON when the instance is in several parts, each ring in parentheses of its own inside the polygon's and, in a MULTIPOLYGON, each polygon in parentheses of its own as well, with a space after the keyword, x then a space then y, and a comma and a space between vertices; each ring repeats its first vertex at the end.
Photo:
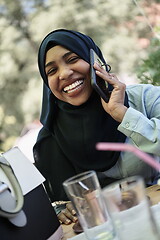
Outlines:
POLYGON ((73 183, 78 183, 80 181, 85 180, 88 177, 91 177, 91 176, 95 175, 95 174, 96 174, 96 172, 94 170, 89 170, 89 171, 86 171, 86 172, 79 173, 77 175, 74 175, 74 176, 66 179, 63 182, 63 186, 71 185, 73 183))

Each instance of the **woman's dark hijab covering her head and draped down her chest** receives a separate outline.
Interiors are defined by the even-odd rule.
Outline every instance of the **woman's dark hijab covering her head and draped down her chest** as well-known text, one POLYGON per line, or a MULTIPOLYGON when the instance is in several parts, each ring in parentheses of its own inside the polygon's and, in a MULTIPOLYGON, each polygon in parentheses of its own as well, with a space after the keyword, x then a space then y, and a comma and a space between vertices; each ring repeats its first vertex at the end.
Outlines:
MULTIPOLYGON (((92 48, 105 63, 93 40, 75 31, 53 31, 40 46, 38 64, 44 80, 41 114, 44 128, 39 134, 34 153, 36 166, 47 179, 46 188, 52 201, 66 200, 63 181, 82 171, 95 170, 103 186, 114 181, 104 177, 102 172, 114 166, 120 153, 97 151, 95 144, 99 141, 124 142, 126 139, 117 130, 119 123, 104 111, 101 99, 94 90, 81 106, 60 101, 52 94, 44 71, 45 54, 57 44, 75 52, 87 62, 92 48)), ((127 94, 125 105, 128 106, 127 94)))

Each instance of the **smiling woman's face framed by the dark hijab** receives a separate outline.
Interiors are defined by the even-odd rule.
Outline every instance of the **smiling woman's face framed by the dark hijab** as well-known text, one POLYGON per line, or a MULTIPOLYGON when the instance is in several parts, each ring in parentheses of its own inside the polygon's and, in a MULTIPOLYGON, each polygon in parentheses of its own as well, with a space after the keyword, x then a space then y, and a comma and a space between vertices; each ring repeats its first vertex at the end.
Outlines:
POLYGON ((90 65, 77 54, 57 45, 46 54, 45 71, 52 93, 74 106, 91 95, 90 65))

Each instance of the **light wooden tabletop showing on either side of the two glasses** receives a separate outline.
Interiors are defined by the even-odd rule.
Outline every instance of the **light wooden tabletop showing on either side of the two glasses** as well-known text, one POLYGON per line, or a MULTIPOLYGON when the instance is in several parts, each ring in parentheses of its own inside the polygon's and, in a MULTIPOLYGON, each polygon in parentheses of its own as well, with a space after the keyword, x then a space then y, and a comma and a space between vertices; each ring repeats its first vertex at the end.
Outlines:
MULTIPOLYGON (((153 185, 151 187, 146 188, 146 194, 150 198, 151 205, 157 204, 158 202, 160 202, 160 185, 153 185)), ((74 223, 70 225, 62 224, 64 232, 64 237, 62 238, 62 240, 67 240, 68 238, 76 236, 72 229, 73 225, 74 223)))

